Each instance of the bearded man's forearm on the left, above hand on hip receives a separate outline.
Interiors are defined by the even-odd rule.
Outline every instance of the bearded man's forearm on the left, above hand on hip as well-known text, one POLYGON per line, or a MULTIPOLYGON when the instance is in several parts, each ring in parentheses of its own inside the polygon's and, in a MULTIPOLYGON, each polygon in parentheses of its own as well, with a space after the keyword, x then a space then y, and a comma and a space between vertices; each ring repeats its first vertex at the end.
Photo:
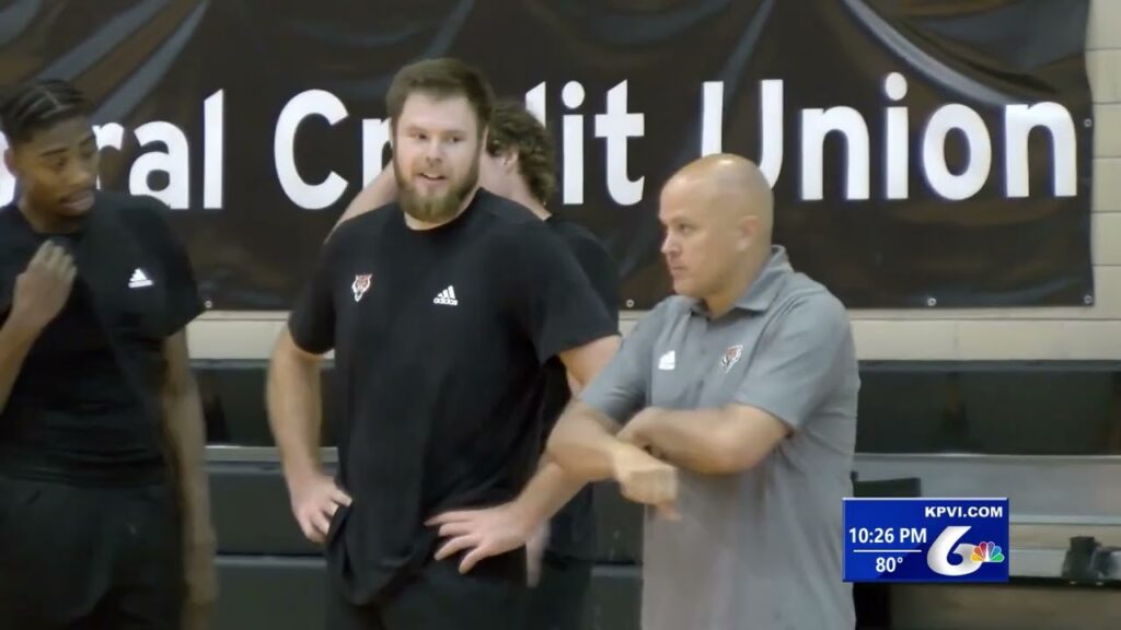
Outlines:
POLYGON ((278 352, 269 367, 267 404, 285 476, 291 480, 319 473, 323 420, 318 364, 291 352, 278 352))

